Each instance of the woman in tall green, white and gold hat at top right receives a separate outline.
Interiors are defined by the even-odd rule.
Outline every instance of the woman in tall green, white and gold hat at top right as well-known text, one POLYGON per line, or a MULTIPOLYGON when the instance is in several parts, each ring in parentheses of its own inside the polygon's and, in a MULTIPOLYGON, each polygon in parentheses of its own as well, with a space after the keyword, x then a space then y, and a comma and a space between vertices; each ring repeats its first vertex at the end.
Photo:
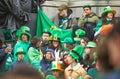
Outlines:
MULTIPOLYGON (((116 11, 113 10, 110 6, 107 6, 103 9, 103 13, 101 14, 102 19, 99 20, 99 22, 96 26, 95 36, 100 34, 100 30, 103 25, 106 25, 104 27, 112 28, 113 25, 111 25, 111 24, 113 24, 115 14, 116 14, 116 11)), ((109 30, 111 30, 111 29, 107 29, 105 31, 109 31, 109 30)))

